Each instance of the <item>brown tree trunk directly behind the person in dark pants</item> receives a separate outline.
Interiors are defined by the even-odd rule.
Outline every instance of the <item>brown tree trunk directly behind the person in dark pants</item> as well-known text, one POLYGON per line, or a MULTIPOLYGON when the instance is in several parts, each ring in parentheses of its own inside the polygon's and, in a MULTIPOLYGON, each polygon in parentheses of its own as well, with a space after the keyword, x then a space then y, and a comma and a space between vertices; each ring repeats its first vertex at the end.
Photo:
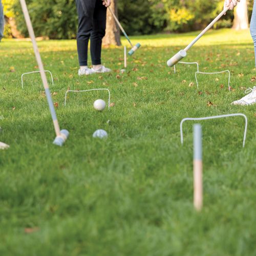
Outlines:
MULTIPOLYGON (((117 0, 112 0, 112 4, 109 8, 111 8, 111 10, 116 14, 118 18, 117 0)), ((121 45, 119 27, 117 26, 115 19, 113 18, 109 10, 107 10, 106 12, 106 34, 102 40, 102 44, 104 46, 109 46, 109 45, 120 46, 121 45)))

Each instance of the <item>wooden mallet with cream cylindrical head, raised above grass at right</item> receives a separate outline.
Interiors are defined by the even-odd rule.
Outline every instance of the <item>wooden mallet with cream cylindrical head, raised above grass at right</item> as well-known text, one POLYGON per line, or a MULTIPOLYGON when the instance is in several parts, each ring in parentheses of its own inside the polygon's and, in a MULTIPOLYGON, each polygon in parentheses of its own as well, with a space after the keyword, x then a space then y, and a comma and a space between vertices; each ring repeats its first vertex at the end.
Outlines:
POLYGON ((167 61, 167 65, 169 67, 173 67, 178 63, 181 59, 186 57, 187 51, 195 45, 195 43, 212 27, 218 20, 228 11, 229 7, 226 7, 212 22, 193 40, 190 44, 184 49, 176 53, 172 58, 167 61))

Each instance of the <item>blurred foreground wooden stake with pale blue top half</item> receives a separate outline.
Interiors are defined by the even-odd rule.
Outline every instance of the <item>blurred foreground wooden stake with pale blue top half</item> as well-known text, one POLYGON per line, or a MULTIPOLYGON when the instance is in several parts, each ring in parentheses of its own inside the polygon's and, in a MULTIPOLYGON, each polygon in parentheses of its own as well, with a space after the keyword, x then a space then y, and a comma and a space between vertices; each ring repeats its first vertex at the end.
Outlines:
POLYGON ((200 211, 203 207, 203 162, 202 127, 194 125, 194 207, 200 211))

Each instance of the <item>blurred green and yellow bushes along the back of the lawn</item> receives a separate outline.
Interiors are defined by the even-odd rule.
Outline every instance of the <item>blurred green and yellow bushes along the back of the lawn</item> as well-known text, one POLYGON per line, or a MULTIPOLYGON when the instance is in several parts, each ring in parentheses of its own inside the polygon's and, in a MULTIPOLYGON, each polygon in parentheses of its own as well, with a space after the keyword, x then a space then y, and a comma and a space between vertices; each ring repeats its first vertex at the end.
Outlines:
MULTIPOLYGON (((187 32, 205 27, 223 9, 224 0, 113 0, 129 35, 187 32)), ((2 0, 7 20, 5 36, 12 36, 8 19, 15 18, 17 30, 28 36, 19 0, 2 0)), ((36 36, 52 39, 75 38, 77 12, 74 0, 27 0, 36 36)), ((249 18, 253 1, 248 1, 249 18)), ((230 28, 233 12, 215 26, 230 28)))

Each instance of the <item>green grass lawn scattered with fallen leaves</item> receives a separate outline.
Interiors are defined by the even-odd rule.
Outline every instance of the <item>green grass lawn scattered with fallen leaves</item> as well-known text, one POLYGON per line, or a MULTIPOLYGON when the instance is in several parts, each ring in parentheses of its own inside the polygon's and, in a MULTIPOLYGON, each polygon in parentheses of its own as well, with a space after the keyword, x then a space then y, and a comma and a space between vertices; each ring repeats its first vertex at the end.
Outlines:
MULTIPOLYGON (((78 77, 75 40, 38 42, 61 129, 55 134, 31 42, 0 44, 0 255, 256 255, 256 105, 233 106, 255 76, 249 31, 210 31, 184 61, 166 61, 197 33, 132 37, 142 47, 128 59, 123 48, 103 49, 111 74, 78 77), (13 72, 11 72, 12 70, 13 72), (189 86, 190 84, 190 86, 189 86), (108 88, 110 111, 96 112, 105 92, 69 94, 67 89, 108 88), (212 104, 209 104, 211 102, 212 104), (193 122, 243 113, 248 133, 242 148, 241 117, 202 121, 204 207, 193 208, 193 122), (110 122, 108 122, 110 120, 110 122), (109 137, 93 139, 97 129, 109 137)), ((126 41, 123 40, 125 45, 126 41)))

